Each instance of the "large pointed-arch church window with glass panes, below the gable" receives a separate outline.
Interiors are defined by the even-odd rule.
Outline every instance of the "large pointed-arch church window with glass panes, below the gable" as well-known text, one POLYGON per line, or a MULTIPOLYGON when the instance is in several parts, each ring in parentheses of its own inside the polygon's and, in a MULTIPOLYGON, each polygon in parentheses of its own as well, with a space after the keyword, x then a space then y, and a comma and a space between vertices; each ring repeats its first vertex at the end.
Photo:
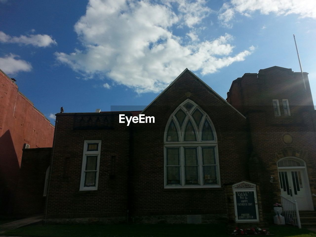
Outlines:
POLYGON ((165 188, 220 187, 215 129, 196 103, 174 110, 164 139, 165 188))

